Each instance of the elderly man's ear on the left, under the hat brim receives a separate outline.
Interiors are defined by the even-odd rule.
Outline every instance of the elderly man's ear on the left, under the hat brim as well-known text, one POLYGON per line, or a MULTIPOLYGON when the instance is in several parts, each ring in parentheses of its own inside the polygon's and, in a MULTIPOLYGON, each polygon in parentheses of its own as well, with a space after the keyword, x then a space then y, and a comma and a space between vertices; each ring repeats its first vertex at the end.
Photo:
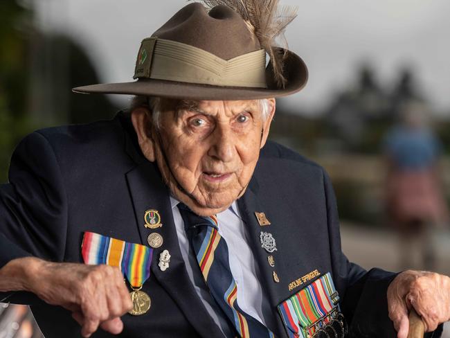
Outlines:
POLYGON ((145 158, 150 162, 155 161, 155 145, 151 135, 150 110, 146 107, 138 107, 132 112, 134 131, 138 136, 139 147, 145 158))

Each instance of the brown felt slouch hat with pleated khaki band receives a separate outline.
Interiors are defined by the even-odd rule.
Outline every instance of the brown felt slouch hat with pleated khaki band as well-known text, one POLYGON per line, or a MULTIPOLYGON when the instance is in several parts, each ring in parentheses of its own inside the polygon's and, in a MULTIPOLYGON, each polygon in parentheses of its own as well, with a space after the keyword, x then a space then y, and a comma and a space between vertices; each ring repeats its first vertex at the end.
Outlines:
POLYGON ((143 39, 136 81, 73 91, 194 100, 250 100, 299 91, 307 82, 305 63, 291 51, 277 48, 276 53, 285 53, 284 85, 276 81, 266 51, 240 14, 227 6, 208 12, 201 3, 190 3, 143 39))

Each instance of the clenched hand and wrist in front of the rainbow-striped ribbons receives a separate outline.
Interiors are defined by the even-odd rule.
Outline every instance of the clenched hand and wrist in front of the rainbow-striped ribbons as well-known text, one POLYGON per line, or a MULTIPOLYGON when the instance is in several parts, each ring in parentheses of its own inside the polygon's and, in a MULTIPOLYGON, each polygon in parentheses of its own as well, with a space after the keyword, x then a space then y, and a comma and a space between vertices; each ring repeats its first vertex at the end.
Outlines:
POLYGON ((51 305, 72 312, 89 337, 100 326, 118 334, 120 316, 133 308, 131 297, 117 267, 78 263, 51 263, 27 257, 11 260, 0 269, 0 292, 28 291, 51 305))

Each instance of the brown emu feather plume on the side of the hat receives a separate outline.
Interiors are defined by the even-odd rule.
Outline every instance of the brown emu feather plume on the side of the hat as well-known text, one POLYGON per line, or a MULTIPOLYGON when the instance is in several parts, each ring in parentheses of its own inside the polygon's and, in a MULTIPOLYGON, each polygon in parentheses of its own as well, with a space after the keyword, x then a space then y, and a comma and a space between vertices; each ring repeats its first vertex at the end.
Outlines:
POLYGON ((286 26, 297 16, 297 8, 279 6, 279 0, 197 0, 207 8, 225 5, 233 8, 246 21, 247 26, 258 38, 260 45, 269 54, 273 75, 278 87, 285 87, 283 62, 286 53, 277 51, 276 39, 287 49, 286 26))

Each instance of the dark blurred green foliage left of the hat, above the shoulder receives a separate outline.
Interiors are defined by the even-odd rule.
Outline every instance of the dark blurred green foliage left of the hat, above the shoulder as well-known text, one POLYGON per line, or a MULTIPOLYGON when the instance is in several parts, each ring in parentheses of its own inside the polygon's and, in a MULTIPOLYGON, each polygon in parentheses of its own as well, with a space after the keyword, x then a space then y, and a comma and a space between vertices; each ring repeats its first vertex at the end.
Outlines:
POLYGON ((21 3, 0 1, 0 182, 7 181, 12 150, 29 132, 109 118, 116 110, 106 96, 71 93, 100 82, 96 69, 69 37, 39 32, 33 10, 21 3))

